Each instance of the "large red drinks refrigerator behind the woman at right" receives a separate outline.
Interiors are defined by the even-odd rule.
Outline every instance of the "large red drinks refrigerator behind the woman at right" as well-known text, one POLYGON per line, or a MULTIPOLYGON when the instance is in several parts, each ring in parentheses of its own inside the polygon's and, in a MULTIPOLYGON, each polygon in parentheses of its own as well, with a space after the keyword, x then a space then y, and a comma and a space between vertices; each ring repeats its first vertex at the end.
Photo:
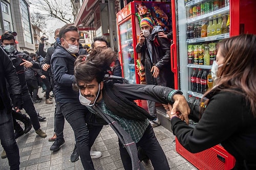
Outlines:
MULTIPOLYGON (((174 35, 171 55, 178 64, 178 87, 187 99, 201 99, 203 90, 193 88, 193 83, 201 82, 207 88, 210 79, 195 79, 191 76, 193 71, 210 72, 218 41, 239 34, 256 34, 256 20, 249 17, 255 16, 256 1, 172 0, 171 4, 174 35)), ((199 169, 230 169, 235 162, 221 145, 191 154, 176 140, 176 151, 199 169)))

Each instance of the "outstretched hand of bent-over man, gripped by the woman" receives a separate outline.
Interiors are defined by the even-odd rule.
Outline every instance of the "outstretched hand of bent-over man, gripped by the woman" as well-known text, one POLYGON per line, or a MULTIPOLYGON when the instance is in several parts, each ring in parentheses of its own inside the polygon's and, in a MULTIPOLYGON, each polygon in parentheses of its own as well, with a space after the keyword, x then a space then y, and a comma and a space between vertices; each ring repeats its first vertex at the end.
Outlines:
POLYGON ((188 125, 188 114, 190 114, 190 108, 185 97, 182 94, 174 94, 173 100, 175 101, 173 106, 168 104, 170 110, 168 115, 170 118, 173 116, 178 116, 182 120, 185 120, 186 124, 188 125))

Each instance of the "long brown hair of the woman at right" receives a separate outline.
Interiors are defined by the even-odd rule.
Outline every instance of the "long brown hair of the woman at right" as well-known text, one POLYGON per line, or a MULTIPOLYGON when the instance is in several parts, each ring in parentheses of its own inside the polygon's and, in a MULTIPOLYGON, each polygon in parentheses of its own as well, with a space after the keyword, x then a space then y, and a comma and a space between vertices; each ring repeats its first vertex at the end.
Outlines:
POLYGON ((204 96, 216 90, 239 93, 250 103, 251 112, 256 117, 256 35, 230 37, 219 42, 217 48, 224 62, 218 68, 216 86, 204 96))

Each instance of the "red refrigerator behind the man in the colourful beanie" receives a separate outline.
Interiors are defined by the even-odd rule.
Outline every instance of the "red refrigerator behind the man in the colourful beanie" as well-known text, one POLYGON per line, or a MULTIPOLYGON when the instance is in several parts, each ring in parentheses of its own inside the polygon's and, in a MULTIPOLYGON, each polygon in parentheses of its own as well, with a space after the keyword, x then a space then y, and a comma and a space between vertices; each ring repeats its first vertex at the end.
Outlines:
MULTIPOLYGON (((122 76, 129 80, 130 83, 141 84, 142 79, 137 74, 137 62, 140 54, 135 52, 135 47, 138 42, 139 34, 141 32, 139 26, 139 11, 137 7, 145 6, 146 9, 144 17, 153 12, 153 7, 160 7, 164 13, 171 16, 170 3, 162 2, 142 2, 133 1, 127 4, 117 14, 118 40, 119 40, 119 60, 122 68, 122 76)), ((169 18, 170 19, 170 18, 169 18)), ((172 29, 171 22, 168 22, 168 31, 172 29)), ((145 101, 136 101, 139 106, 146 108, 145 101)))

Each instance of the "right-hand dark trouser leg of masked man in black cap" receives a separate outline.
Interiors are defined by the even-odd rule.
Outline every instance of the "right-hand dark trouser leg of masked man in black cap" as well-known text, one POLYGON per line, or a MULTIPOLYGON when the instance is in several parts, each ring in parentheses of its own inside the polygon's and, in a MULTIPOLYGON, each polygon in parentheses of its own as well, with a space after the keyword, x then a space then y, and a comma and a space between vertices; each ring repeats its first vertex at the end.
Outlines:
POLYGON ((23 100, 23 108, 28 113, 32 126, 35 130, 40 128, 38 115, 35 110, 34 104, 32 102, 32 98, 29 94, 29 91, 22 93, 22 100, 23 100))

